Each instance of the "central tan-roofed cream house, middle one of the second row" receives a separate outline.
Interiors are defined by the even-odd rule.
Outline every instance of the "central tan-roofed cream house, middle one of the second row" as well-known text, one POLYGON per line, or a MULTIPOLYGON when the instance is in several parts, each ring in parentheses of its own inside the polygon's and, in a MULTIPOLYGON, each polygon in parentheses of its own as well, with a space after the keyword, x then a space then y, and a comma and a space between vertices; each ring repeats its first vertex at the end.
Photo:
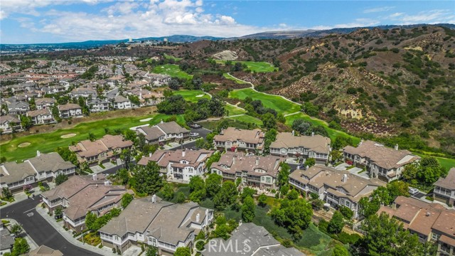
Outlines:
POLYGON ((220 161, 212 164, 211 173, 223 176, 225 180, 242 178, 246 186, 276 189, 282 162, 284 159, 279 156, 245 156, 242 152, 228 151, 220 161))

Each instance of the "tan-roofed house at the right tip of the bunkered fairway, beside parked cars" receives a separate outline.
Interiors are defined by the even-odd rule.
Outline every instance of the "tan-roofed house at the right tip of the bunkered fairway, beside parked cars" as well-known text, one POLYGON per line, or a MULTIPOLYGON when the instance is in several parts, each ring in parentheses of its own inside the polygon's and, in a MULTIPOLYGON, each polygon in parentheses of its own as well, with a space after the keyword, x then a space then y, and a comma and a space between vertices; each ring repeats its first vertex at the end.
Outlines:
POLYGON ((137 134, 144 134, 148 144, 165 144, 167 142, 183 142, 190 138, 190 131, 175 121, 161 122, 153 127, 138 127, 137 134))

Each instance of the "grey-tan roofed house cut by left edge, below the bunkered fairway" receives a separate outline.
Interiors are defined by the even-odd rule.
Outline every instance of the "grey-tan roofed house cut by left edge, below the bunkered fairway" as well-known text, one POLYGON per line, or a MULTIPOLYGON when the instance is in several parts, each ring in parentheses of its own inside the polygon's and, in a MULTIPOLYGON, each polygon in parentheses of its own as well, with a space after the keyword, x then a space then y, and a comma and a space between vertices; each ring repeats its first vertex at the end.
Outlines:
POLYGON ((58 153, 41 154, 22 163, 7 162, 0 165, 1 187, 11 192, 19 192, 24 186, 35 186, 38 181, 52 181, 59 174, 67 176, 75 173, 76 166, 65 161, 58 153))

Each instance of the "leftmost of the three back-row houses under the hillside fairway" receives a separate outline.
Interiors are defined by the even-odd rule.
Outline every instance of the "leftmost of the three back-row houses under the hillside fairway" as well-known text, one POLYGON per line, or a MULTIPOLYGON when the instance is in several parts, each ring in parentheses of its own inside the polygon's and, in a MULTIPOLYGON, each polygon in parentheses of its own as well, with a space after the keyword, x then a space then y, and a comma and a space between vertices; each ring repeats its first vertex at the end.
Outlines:
POLYGON ((241 150, 260 154, 264 148, 264 137, 265 134, 260 129, 248 130, 228 127, 213 137, 213 144, 218 150, 222 151, 241 150))

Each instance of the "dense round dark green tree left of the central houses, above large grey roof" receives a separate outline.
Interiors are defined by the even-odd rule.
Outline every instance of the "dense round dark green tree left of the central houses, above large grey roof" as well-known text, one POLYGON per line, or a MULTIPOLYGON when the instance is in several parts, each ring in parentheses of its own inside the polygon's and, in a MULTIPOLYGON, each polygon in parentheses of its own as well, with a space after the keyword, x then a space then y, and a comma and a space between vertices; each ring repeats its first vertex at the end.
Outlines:
POLYGON ((159 166, 149 162, 146 166, 137 165, 134 169, 134 188, 139 193, 152 195, 163 186, 163 177, 159 174, 159 166))

